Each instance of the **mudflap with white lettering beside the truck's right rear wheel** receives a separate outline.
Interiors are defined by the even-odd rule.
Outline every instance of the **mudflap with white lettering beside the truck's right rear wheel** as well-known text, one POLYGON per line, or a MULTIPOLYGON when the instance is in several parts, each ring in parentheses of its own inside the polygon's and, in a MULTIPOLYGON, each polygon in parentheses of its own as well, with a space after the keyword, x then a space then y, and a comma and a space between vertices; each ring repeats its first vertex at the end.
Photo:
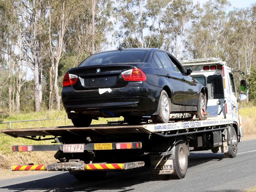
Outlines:
POLYGON ((154 175, 173 174, 174 162, 172 157, 151 156, 151 170, 154 175))

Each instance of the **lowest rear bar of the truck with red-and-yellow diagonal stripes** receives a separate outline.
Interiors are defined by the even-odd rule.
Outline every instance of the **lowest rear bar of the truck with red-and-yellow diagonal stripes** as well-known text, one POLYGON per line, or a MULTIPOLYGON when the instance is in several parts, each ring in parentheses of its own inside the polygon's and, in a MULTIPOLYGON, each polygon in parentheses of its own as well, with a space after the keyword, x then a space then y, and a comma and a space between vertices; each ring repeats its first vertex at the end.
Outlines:
POLYGON ((60 162, 46 165, 13 165, 12 171, 93 171, 93 170, 128 170, 144 166, 143 161, 125 163, 94 163, 85 164, 82 162, 60 162))

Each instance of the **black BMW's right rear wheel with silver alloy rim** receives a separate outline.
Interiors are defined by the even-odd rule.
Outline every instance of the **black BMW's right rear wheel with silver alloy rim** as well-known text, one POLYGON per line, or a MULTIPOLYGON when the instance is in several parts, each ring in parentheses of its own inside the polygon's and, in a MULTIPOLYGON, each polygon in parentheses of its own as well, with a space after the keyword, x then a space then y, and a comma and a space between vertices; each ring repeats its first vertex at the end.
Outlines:
POLYGON ((161 91, 159 105, 159 113, 157 115, 152 115, 151 119, 154 123, 168 123, 170 120, 171 102, 165 90, 161 91))

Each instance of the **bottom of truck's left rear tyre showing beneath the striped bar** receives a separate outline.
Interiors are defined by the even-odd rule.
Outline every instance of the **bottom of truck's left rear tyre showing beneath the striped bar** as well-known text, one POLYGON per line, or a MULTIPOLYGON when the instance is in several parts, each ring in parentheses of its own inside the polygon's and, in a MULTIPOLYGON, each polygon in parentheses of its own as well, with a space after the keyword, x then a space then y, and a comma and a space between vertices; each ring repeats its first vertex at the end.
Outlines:
POLYGON ((79 181, 87 181, 87 180, 93 180, 93 179, 103 179, 107 172, 106 171, 81 171, 81 172, 75 172, 72 173, 70 171, 70 174, 74 175, 74 177, 79 181))

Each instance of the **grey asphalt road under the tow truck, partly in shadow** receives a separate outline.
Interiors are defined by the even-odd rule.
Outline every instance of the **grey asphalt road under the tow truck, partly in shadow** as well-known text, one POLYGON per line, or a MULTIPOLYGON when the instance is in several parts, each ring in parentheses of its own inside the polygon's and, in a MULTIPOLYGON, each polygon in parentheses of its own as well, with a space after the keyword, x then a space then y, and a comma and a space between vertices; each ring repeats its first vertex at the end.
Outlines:
POLYGON ((109 172, 104 180, 80 182, 66 172, 0 180, 0 191, 84 192, 238 192, 256 186, 256 140, 239 143, 236 158, 211 151, 191 153, 184 179, 154 177, 150 169, 109 172))

